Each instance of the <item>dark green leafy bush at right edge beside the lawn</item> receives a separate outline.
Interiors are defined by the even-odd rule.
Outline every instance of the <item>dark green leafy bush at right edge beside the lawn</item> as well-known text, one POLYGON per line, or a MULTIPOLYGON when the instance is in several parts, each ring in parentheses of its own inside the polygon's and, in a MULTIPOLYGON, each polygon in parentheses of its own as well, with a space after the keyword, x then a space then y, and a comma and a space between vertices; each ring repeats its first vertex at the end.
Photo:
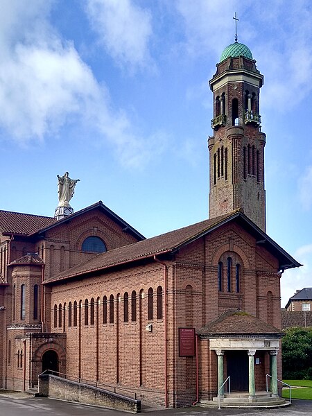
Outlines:
POLYGON ((312 328, 286 329, 281 359, 284 379, 312 379, 312 328))

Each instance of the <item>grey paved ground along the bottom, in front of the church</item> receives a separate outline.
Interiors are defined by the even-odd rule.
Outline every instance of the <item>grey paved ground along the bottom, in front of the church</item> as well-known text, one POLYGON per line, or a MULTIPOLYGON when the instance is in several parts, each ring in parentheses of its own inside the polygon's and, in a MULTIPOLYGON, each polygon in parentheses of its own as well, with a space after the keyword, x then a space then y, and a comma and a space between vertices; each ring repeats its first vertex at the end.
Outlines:
MULTIPOLYGON (((311 416, 312 401, 295 400, 293 406, 273 410, 217 410, 198 407, 166 410, 144 408, 142 413, 147 412, 148 416, 311 416)), ((0 394, 0 416, 125 416, 127 414, 55 399, 29 397, 23 393, 0 394)))

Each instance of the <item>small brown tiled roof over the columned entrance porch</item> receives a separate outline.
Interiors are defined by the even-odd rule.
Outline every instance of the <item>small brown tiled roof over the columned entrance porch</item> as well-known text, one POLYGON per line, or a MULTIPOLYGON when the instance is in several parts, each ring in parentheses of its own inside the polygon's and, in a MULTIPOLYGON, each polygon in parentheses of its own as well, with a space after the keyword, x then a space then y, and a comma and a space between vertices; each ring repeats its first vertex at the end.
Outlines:
POLYGON ((227 311, 197 331, 202 335, 281 334, 281 330, 243 311, 227 311))

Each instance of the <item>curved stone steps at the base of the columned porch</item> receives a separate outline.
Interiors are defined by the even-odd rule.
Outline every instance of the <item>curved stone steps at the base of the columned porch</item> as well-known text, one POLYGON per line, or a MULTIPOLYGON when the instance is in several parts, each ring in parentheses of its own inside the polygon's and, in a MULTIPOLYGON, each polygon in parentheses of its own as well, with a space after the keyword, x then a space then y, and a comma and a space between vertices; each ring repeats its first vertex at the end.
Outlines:
MULTIPOLYGON (((225 408, 280 408, 289 406, 291 403, 282 397, 271 397, 268 392, 257 392, 256 397, 249 399, 247 392, 233 392, 231 395, 225 393, 220 401, 220 407, 225 408)), ((218 397, 212 400, 201 400, 198 406, 218 407, 218 397)))

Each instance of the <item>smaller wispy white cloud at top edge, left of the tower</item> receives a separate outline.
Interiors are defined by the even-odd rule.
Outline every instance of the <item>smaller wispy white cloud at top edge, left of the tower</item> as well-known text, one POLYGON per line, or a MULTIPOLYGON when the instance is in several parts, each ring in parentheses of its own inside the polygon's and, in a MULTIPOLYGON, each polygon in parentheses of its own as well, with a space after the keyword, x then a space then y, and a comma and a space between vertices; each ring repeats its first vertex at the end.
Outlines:
POLYGON ((114 60, 132 69, 150 64, 152 26, 148 10, 130 0, 88 0, 87 15, 114 60))

